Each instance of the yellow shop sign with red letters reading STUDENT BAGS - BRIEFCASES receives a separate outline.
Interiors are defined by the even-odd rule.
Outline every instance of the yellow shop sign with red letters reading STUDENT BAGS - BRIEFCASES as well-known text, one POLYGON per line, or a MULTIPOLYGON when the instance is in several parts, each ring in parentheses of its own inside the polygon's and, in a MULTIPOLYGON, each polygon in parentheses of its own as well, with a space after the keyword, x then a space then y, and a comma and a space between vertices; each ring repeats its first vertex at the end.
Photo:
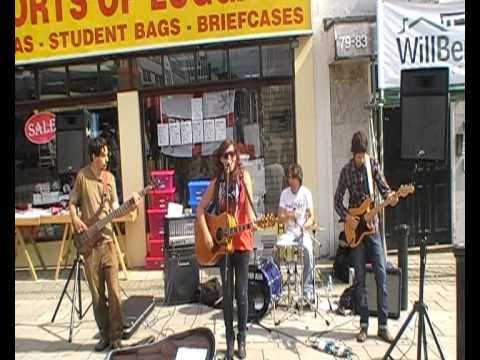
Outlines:
POLYGON ((310 0, 15 0, 15 62, 311 34, 310 0))

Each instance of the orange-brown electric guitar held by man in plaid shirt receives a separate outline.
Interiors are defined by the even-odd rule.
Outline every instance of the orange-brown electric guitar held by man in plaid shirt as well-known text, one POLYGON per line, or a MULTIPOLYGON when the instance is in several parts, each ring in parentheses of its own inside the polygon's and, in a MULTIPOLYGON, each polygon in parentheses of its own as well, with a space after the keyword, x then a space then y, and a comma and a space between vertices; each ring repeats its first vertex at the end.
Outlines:
MULTIPOLYGON (((395 192, 395 196, 403 198, 415 191, 415 187, 412 184, 402 185, 395 192)), ((351 208, 348 213, 352 216, 358 216, 357 227, 350 226, 345 221, 345 238, 347 246, 355 248, 362 242, 363 238, 367 235, 371 235, 375 232, 375 226, 373 225, 373 219, 383 208, 392 204, 393 198, 388 198, 384 202, 374 207, 373 200, 368 197, 358 208, 351 208)))

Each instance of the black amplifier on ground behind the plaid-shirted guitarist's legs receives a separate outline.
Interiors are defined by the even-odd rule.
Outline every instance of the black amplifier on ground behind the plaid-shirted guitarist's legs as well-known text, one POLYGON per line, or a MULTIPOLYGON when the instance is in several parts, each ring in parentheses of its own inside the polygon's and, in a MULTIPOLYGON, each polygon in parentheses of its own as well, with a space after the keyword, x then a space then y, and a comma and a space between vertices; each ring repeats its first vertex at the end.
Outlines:
MULTIPOLYGON (((365 268, 365 287, 367 289, 368 311, 377 316, 377 283, 373 267, 367 264, 365 268)), ((388 317, 398 319, 402 305, 402 271, 387 267, 388 317)))

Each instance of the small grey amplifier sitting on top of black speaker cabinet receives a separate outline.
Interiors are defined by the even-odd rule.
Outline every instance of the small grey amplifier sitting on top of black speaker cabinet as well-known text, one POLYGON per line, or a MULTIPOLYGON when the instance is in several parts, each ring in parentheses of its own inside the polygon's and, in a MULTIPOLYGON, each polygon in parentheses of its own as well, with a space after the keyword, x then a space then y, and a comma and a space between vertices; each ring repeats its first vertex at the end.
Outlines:
POLYGON ((181 248, 195 248, 195 215, 165 218, 166 254, 181 248))

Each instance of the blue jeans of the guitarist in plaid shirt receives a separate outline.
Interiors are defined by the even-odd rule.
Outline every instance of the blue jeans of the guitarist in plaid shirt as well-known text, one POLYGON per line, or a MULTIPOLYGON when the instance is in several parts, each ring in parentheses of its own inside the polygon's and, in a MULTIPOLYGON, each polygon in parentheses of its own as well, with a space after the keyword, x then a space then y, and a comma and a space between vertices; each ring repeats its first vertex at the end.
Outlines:
POLYGON ((377 283, 377 316, 379 329, 387 328, 388 301, 387 301, 387 271, 383 243, 377 232, 363 239, 362 243, 350 251, 350 262, 355 268, 355 305, 360 314, 360 327, 368 328, 367 289, 365 287, 366 252, 370 251, 373 261, 375 281, 377 283))

